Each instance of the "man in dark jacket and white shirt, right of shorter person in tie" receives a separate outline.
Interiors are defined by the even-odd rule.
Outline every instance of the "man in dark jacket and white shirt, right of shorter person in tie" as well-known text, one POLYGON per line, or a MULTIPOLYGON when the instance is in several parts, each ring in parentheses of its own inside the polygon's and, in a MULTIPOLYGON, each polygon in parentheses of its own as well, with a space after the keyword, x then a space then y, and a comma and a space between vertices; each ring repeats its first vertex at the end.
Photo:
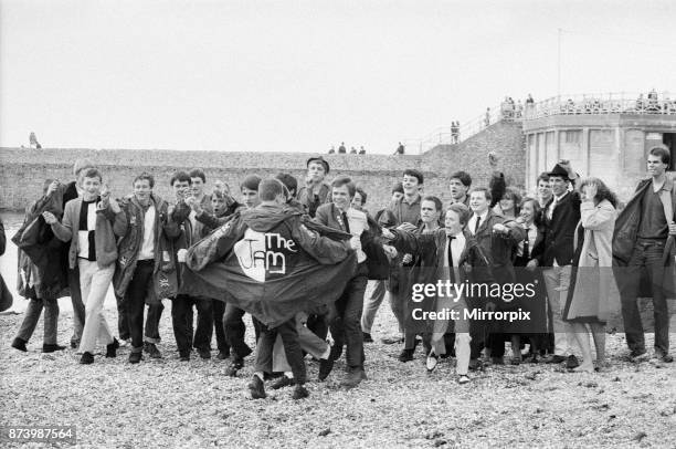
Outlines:
MULTIPOLYGON (((482 250, 490 263, 490 269, 495 281, 500 284, 516 282, 516 273, 511 263, 511 255, 516 251, 519 242, 526 238, 526 232, 514 220, 507 220, 495 213, 490 208, 490 191, 487 188, 475 188, 469 194, 469 208, 472 218, 467 222, 469 233, 472 233, 482 247, 482 250)), ((476 305, 469 301, 469 305, 476 305)), ((500 310, 501 302, 497 302, 495 307, 500 310)), ((471 322, 472 330, 472 367, 479 367, 478 361, 480 345, 483 342, 485 322, 480 320, 471 322)), ((492 323, 489 340, 486 343, 490 349, 492 362, 503 364, 505 355, 504 334, 500 333, 499 323, 492 323)))

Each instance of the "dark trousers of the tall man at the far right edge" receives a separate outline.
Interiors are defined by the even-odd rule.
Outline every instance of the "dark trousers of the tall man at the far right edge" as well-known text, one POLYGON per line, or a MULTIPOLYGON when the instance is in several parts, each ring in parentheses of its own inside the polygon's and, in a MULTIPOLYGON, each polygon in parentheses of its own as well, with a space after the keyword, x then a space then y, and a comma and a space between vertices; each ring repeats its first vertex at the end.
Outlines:
POLYGON ((629 265, 620 268, 615 273, 619 281, 622 301, 622 319, 624 333, 630 349, 645 351, 645 336, 641 313, 636 303, 642 272, 647 272, 647 280, 653 291, 653 309, 655 316, 655 349, 662 354, 669 352, 669 314, 664 293, 664 265, 662 262, 665 241, 638 240, 629 265), (645 271, 644 271, 645 270, 645 271))

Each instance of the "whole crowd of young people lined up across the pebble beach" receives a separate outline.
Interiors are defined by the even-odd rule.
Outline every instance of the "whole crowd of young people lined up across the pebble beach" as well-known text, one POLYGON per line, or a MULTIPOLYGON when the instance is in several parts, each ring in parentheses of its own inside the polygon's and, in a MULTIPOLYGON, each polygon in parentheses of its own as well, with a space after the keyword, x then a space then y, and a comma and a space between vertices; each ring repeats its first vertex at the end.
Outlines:
MULTIPOLYGON (((507 342, 514 365, 603 369, 605 324, 619 297, 629 357, 668 363, 667 297, 676 261, 669 156, 664 147, 648 152, 649 177, 623 207, 601 179, 581 179, 560 160, 537 178, 530 196, 506 185, 497 170, 487 186, 473 186, 469 174, 457 171, 445 205, 441 195, 424 191, 419 170, 405 169, 374 216, 365 207, 368 187, 344 176, 328 182, 321 157, 307 160, 303 186, 288 174, 249 175, 237 199, 223 181, 212 181, 208 194, 202 169, 177 171, 167 180, 173 189, 168 200, 154 192, 148 173, 134 179, 131 194, 115 199, 103 182, 106 174, 81 159, 74 180, 44 182, 12 238, 18 291, 30 302, 11 346, 25 352, 43 314, 42 351, 63 351, 57 299, 70 296, 71 347, 80 363, 94 363, 103 346, 105 357, 127 346, 130 364, 144 355, 160 358, 161 300, 169 299, 180 361, 196 352, 211 358, 215 331, 216 357, 229 359, 226 374, 235 376, 254 352, 245 343, 243 316, 250 313, 252 397, 265 397, 265 382, 273 379, 275 389, 295 386, 299 399, 308 395, 307 354, 318 361, 319 380, 344 353, 341 385, 367 379, 363 346, 373 342, 385 295, 399 333, 382 342, 401 345, 401 363, 422 346, 429 373, 454 359, 460 384, 471 382, 472 370, 505 364, 507 342), (442 288, 448 282, 497 285, 503 294, 451 293, 442 288), (117 337, 103 311, 110 283, 117 337), (506 286, 519 284, 534 294, 515 299, 516 288, 506 286), (424 297, 414 294, 420 285, 424 297), (651 353, 637 297, 653 301, 651 353), (526 319, 499 319, 510 312, 526 319)), ((497 167, 495 156, 490 164, 497 167)))

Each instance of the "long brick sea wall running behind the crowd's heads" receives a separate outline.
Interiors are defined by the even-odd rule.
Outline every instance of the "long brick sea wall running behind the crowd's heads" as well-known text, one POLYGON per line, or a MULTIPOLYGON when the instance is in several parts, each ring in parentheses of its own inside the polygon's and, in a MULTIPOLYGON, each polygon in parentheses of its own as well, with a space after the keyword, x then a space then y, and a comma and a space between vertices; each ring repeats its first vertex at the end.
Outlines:
MULTIPOLYGON (((422 170, 425 192, 442 197, 447 190, 448 175, 461 167, 476 177, 477 182, 484 182, 489 175, 486 161, 490 150, 501 156, 506 173, 522 178, 525 152, 520 127, 514 124, 493 125, 461 145, 440 147, 422 156, 323 156, 331 167, 329 178, 347 175, 363 186, 369 196, 367 207, 374 212, 388 202, 390 189, 401 180, 404 168, 422 170)), ((302 153, 0 148, 0 209, 23 209, 41 195, 46 178, 73 179, 72 166, 78 158, 96 164, 116 196, 129 194, 134 177, 146 170, 155 175, 155 191, 168 198, 171 195, 169 178, 178 169, 202 167, 208 188, 214 179, 223 179, 236 192, 249 174, 265 177, 286 171, 302 182, 309 156, 302 153)))

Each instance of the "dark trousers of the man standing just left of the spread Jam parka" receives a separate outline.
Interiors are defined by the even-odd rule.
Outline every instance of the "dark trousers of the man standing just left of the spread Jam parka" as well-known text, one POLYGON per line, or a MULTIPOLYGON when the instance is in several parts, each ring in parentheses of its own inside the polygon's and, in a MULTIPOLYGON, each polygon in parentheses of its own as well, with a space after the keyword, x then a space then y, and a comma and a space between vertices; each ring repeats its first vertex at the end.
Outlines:
POLYGON ((190 354, 194 346, 198 349, 211 349, 213 335, 213 310, 211 300, 179 294, 171 306, 171 323, 176 345, 181 355, 190 354), (192 336, 192 306, 198 311, 198 325, 192 336))

